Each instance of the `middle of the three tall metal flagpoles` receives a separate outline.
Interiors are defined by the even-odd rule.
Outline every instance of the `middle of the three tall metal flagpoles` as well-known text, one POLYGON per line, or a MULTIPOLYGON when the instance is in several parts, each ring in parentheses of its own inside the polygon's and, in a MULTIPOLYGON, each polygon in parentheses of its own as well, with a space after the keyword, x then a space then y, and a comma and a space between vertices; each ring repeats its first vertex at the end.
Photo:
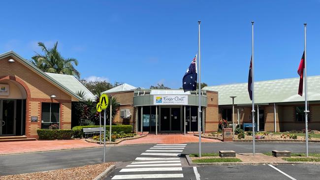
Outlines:
POLYGON ((254 21, 252 23, 252 142, 253 142, 253 156, 256 154, 256 135, 255 135, 255 73, 254 73, 254 21))

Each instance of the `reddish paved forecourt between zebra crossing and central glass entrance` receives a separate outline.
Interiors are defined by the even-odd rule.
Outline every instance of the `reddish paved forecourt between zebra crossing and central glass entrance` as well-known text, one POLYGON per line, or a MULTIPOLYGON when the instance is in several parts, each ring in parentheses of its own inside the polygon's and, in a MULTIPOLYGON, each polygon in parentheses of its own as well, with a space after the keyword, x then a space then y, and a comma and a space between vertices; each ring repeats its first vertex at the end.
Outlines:
MULTIPOLYGON (((169 134, 169 135, 154 135, 149 134, 146 137, 133 139, 128 141, 123 141, 119 145, 131 145, 131 144, 147 144, 147 143, 157 143, 157 144, 181 144, 181 143, 191 143, 198 142, 199 137, 193 136, 193 134, 169 134)), ((201 142, 221 142, 215 139, 202 138, 201 142)))

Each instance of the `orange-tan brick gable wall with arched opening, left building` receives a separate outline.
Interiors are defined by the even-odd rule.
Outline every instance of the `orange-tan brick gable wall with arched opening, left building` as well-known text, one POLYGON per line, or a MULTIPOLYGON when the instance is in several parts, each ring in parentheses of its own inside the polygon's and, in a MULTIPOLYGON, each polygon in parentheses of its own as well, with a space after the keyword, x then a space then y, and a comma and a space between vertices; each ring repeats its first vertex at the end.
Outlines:
POLYGON ((21 84, 27 92, 26 99, 26 136, 37 138, 36 130, 41 128, 41 103, 58 102, 60 108, 60 128, 71 128, 71 96, 53 85, 51 82, 38 75, 22 64, 14 57, 7 57, 0 60, 0 83, 1 80, 15 81, 21 84), (9 63, 14 59, 14 63, 9 63), (50 95, 57 98, 51 99, 50 95), (31 122, 31 117, 38 117, 37 122, 31 122))

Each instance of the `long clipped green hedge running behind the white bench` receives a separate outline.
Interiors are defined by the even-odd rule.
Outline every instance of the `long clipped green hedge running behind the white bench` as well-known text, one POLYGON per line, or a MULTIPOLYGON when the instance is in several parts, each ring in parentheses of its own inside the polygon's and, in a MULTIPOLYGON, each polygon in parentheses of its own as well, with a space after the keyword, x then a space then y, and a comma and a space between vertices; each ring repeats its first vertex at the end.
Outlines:
MULTIPOLYGON (((72 127, 72 130, 74 130, 74 137, 75 138, 82 138, 84 136, 83 134, 83 128, 91 128, 91 127, 100 127, 99 125, 85 125, 85 126, 74 126, 72 127)), ((101 126, 103 127, 103 126, 101 126)), ((106 130, 109 130, 110 125, 105 126, 106 130)), ((111 126, 112 132, 124 132, 124 133, 131 133, 132 132, 132 125, 112 125, 111 126)))

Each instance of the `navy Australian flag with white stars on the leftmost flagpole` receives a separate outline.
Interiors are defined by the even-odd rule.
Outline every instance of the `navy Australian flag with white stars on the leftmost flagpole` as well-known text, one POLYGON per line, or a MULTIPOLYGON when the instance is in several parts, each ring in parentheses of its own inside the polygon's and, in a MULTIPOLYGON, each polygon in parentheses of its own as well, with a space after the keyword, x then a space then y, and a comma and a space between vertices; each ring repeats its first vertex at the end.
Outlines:
POLYGON ((196 69, 196 55, 193 58, 189 68, 187 69, 186 74, 182 79, 182 87, 185 92, 190 90, 196 90, 196 78, 197 78, 197 69, 196 69))

